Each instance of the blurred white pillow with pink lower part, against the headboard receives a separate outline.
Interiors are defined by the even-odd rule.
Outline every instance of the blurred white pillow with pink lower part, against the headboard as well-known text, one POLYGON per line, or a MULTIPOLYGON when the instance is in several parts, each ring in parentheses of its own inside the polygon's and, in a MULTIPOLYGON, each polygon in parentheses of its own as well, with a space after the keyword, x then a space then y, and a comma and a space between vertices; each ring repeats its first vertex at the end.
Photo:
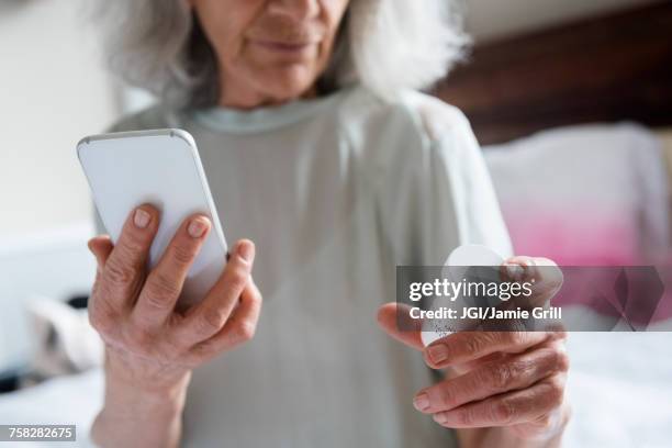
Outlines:
MULTIPOLYGON (((660 142, 645 127, 563 127, 484 154, 516 254, 672 272, 668 179, 660 142)), ((654 320, 670 317, 672 284, 654 320)))

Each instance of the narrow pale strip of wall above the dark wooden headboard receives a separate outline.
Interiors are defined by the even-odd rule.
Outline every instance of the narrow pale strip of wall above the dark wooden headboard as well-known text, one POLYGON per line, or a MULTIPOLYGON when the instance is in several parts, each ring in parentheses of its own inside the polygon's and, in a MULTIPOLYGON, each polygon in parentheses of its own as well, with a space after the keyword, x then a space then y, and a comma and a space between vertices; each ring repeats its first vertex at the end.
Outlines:
POLYGON ((656 0, 463 0, 467 30, 477 41, 632 8, 656 0))

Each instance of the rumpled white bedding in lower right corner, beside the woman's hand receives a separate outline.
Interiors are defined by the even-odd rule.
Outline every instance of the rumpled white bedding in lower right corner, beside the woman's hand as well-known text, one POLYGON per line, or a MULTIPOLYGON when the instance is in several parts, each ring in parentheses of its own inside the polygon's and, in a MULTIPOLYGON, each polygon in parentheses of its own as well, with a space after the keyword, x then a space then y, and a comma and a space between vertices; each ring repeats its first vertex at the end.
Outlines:
POLYGON ((567 447, 672 446, 672 333, 571 333, 567 447))

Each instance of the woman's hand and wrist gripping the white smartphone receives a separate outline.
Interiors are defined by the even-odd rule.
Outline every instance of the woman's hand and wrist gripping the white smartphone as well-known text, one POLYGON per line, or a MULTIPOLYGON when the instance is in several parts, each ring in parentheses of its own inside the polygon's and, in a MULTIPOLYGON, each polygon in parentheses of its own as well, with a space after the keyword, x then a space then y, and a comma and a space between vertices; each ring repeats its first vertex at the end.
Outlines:
POLYGON ((180 312, 176 304, 211 223, 201 214, 187 219, 156 267, 147 270, 158 225, 158 211, 145 204, 130 214, 116 245, 108 236, 89 242, 98 261, 89 318, 105 344, 105 404, 93 426, 93 437, 101 445, 115 445, 109 438, 116 439, 122 428, 115 432, 114 426, 123 424, 128 432, 130 419, 139 424, 148 413, 156 416, 159 428, 150 429, 156 425, 145 422, 148 434, 136 432, 133 441, 177 443, 177 414, 191 370, 249 340, 259 318, 261 294, 250 275, 255 258, 250 240, 235 245, 208 295, 180 312), (168 439, 150 440, 149 432, 161 433, 161 413, 170 434, 168 439))

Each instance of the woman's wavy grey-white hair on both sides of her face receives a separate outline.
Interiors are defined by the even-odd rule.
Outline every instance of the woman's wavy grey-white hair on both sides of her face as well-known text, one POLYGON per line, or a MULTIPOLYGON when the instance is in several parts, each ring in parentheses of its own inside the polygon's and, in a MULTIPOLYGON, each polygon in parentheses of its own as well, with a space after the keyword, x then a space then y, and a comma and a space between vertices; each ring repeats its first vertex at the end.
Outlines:
MULTIPOLYGON (((219 99, 214 51, 184 0, 100 0, 110 68, 176 107, 219 99)), ((327 89, 360 82, 383 99, 441 79, 469 44, 453 0, 351 0, 327 89)))

